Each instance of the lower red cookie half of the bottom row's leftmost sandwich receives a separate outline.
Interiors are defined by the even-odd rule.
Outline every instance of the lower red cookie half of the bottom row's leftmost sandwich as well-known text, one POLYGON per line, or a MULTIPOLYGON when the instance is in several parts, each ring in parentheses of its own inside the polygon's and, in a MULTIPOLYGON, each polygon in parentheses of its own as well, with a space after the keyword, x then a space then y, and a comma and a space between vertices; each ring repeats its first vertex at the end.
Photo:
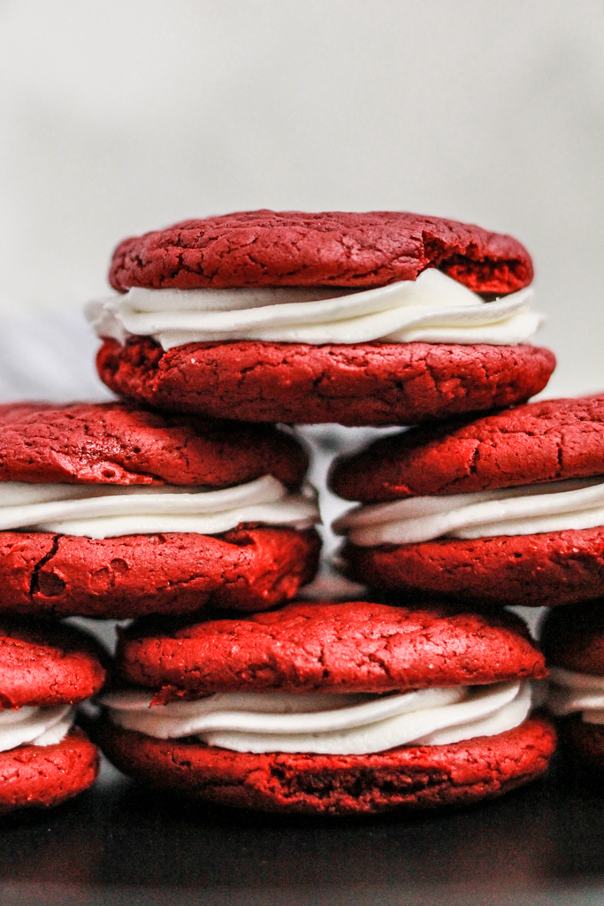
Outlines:
POLYGON ((97 747, 78 728, 53 746, 0 752, 0 814, 60 805, 88 789, 98 772, 97 747))

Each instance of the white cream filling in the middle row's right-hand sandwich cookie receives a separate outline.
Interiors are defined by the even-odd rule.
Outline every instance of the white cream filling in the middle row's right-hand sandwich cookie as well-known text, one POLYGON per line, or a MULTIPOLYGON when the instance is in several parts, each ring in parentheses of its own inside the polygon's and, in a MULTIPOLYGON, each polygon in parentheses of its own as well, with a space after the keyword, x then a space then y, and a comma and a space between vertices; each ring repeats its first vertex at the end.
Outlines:
POLYGON ((348 535, 353 545, 371 547, 442 537, 536 535, 597 525, 604 525, 601 476, 358 506, 332 527, 337 535, 348 535))

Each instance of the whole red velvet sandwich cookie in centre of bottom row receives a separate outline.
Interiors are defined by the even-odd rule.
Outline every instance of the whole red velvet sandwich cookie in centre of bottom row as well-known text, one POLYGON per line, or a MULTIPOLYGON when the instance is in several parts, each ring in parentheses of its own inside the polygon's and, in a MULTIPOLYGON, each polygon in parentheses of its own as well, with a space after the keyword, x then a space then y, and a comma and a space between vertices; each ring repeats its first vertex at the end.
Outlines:
POLYGON ((292 603, 121 633, 98 741, 125 773, 221 805, 362 814, 464 805, 540 776, 546 670, 523 622, 430 606, 292 603))

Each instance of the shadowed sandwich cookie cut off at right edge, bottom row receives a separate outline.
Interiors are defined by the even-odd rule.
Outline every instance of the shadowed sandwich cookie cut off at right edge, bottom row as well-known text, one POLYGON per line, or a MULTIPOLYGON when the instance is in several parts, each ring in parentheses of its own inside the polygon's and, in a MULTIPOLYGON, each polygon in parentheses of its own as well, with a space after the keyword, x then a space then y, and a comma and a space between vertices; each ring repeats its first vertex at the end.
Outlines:
POLYGON ((550 611, 542 644, 551 665, 548 708, 566 753, 604 771, 604 601, 550 611))

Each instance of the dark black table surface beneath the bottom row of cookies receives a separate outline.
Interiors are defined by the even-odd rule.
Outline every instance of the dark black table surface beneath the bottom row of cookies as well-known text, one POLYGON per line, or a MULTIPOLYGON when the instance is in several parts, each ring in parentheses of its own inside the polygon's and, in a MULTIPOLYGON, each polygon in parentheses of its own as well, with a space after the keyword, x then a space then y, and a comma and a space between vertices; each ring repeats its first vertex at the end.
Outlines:
POLYGON ((560 762, 463 811, 331 821, 189 805, 106 766, 2 825, 3 906, 604 903, 604 792, 560 762))

